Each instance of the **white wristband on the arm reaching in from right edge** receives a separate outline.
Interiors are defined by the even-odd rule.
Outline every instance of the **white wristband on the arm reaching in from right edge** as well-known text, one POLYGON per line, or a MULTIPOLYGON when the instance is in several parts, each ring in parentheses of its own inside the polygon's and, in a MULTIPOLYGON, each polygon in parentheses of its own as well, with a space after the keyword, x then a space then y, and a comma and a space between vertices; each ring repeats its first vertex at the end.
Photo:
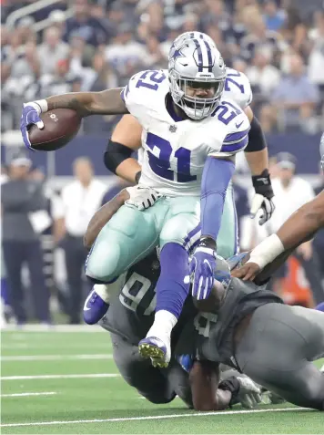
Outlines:
POLYGON ((252 250, 247 263, 256 263, 260 269, 263 269, 284 251, 285 247, 278 235, 272 234, 252 250))

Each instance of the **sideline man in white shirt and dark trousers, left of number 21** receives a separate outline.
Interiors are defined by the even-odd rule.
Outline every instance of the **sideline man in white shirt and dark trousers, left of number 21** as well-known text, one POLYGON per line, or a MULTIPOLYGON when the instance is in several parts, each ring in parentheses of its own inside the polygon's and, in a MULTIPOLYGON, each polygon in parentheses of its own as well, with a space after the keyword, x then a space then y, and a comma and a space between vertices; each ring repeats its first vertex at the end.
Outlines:
POLYGON ((82 275, 86 261, 83 236, 90 219, 100 207, 106 184, 94 178, 91 161, 80 157, 73 163, 75 181, 63 188, 66 236, 62 247, 66 253, 66 274, 69 286, 69 323, 79 324, 83 301, 82 275))

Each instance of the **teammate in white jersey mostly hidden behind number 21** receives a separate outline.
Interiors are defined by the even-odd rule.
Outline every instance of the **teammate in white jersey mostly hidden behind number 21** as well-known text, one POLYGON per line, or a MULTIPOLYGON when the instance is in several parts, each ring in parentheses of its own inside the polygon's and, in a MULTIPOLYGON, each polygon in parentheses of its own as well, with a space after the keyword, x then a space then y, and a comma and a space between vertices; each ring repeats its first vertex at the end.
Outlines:
MULTIPOLYGON (((181 44, 184 38, 206 39, 209 44, 213 44, 213 40, 200 32, 186 32, 173 43, 173 47, 181 44)), ((172 50, 170 51, 172 53, 172 50)), ((223 98, 234 100, 238 106, 244 110, 251 124, 251 129, 248 132, 248 146, 244 150, 248 161, 248 166, 252 174, 252 183, 256 194, 251 204, 251 215, 256 216, 258 209, 261 208, 263 214, 259 221, 263 224, 268 221, 274 211, 274 205, 271 201, 273 191, 270 177, 268 174, 268 148, 265 136, 254 116, 249 104, 252 101, 252 90, 245 74, 238 72, 236 69, 226 68, 227 77, 225 80, 225 88, 223 98)), ((141 163, 143 160, 142 152, 142 126, 132 115, 124 115, 117 123, 113 131, 111 140, 108 141, 104 162, 109 171, 116 173, 119 177, 137 183, 141 175, 141 163), (132 158, 132 152, 138 150, 138 161, 132 158)), ((224 208, 224 214, 227 212, 235 214, 234 201, 232 201, 231 186, 228 186, 227 199, 224 208)), ((141 191, 143 200, 150 200, 149 192, 141 191)), ((222 237, 222 231, 220 231, 222 237)), ((227 234, 228 237, 228 234, 227 234)), ((221 240, 220 240, 221 243, 221 240)), ((218 240, 219 246, 219 240, 218 240)))

